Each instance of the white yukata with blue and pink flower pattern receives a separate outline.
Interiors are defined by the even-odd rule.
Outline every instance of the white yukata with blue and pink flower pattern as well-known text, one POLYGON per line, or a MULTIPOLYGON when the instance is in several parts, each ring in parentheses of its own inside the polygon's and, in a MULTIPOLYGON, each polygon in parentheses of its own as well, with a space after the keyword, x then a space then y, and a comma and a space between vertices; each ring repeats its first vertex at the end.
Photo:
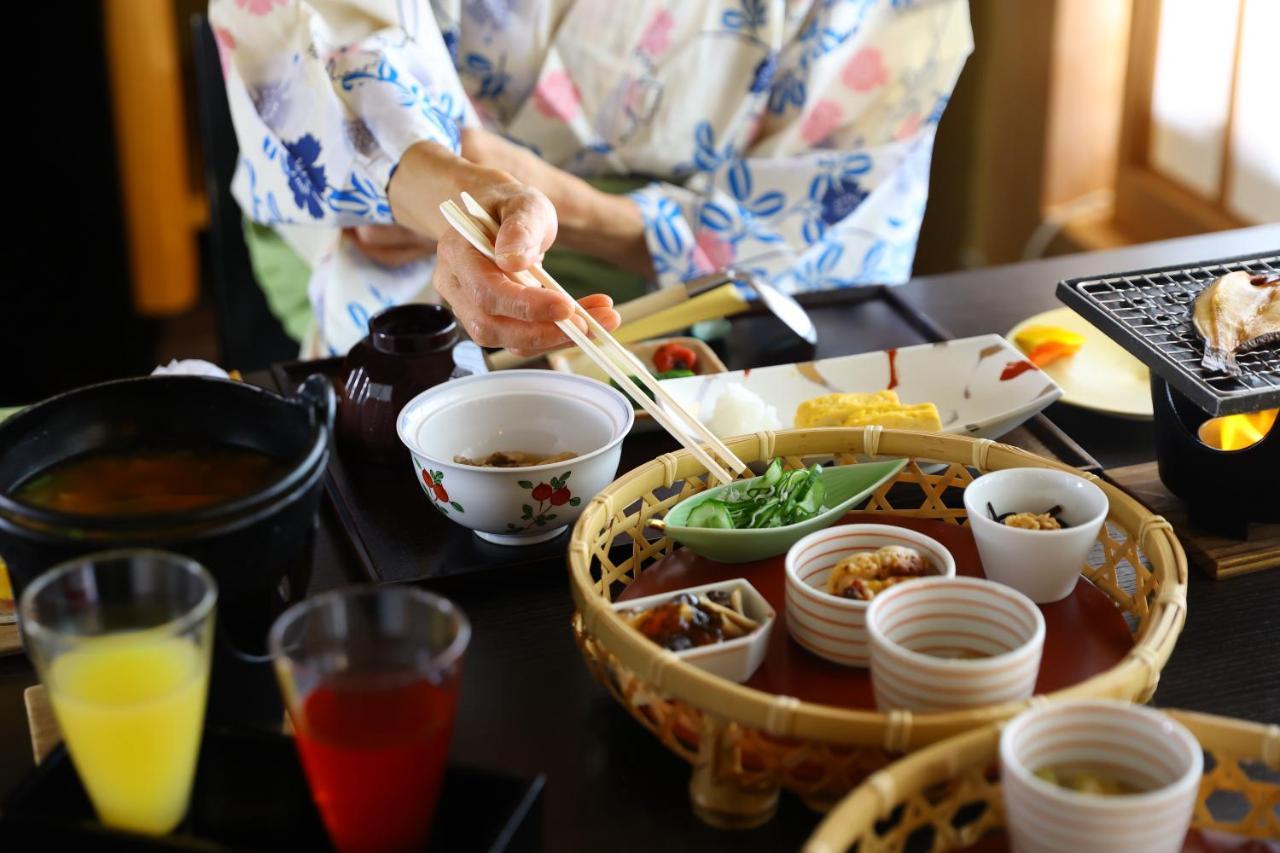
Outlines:
POLYGON ((910 275, 934 131, 972 50, 965 0, 212 0, 247 215, 305 246, 330 351, 429 297, 342 227, 485 127, 632 193, 669 286, 733 264, 785 291, 910 275))

